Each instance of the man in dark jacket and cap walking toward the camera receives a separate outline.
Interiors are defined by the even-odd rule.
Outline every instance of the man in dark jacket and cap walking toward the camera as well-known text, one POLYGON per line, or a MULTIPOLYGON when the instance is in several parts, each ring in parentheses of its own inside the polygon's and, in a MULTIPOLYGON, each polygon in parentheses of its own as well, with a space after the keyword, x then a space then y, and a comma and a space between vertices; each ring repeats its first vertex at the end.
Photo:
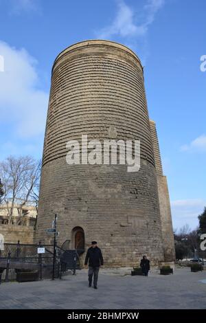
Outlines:
POLYGON ((87 266, 89 260, 89 287, 91 287, 92 278, 93 278, 93 287, 98 289, 98 274, 100 266, 103 266, 104 260, 102 257, 101 249, 98 247, 96 241, 92 241, 91 247, 87 250, 87 255, 84 261, 84 265, 87 266))

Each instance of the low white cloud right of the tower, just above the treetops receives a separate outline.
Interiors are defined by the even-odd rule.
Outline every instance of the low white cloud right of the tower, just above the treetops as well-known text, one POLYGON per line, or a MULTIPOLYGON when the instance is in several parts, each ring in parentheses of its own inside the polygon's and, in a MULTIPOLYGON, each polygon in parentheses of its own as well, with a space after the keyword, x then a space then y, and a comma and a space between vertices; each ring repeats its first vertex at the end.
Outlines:
POLYGON ((195 229, 198 225, 198 215, 206 205, 204 199, 181 199, 171 201, 173 227, 180 228, 186 223, 195 229))

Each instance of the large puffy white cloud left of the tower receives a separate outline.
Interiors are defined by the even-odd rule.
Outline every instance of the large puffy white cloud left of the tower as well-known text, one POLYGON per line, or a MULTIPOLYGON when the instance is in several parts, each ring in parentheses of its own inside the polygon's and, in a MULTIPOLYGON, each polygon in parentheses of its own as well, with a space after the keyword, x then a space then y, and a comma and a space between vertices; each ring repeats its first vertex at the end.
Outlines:
POLYGON ((41 135, 45 129, 48 93, 38 89, 37 62, 25 49, 0 41, 4 71, 0 74, 0 111, 5 126, 20 137, 41 135))

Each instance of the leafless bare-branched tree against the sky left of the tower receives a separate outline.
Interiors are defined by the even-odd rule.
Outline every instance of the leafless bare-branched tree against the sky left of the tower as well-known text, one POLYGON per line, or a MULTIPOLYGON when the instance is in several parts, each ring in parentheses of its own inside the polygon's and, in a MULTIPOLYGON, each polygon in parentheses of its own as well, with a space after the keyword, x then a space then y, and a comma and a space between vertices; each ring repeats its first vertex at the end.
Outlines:
POLYGON ((41 161, 36 161, 30 156, 10 156, 0 163, 0 176, 4 191, 3 201, 7 205, 8 224, 12 224, 15 203, 19 204, 19 219, 16 224, 21 221, 23 206, 27 201, 32 200, 38 203, 40 172, 41 161))

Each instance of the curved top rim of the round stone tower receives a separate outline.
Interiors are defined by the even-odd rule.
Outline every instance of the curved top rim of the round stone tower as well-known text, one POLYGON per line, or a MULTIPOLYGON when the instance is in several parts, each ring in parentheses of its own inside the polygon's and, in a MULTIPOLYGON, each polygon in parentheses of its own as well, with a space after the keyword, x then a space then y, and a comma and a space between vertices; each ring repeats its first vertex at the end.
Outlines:
POLYGON ((124 52, 127 52, 128 54, 132 55, 138 61, 139 65, 141 66, 141 69, 143 70, 143 67, 141 65, 141 60, 139 59, 137 54, 135 54, 135 52, 133 52, 133 50, 130 49, 129 47, 127 47, 126 45, 122 45, 121 43, 117 43, 115 41, 107 41, 104 39, 89 39, 87 41, 80 41, 78 43, 74 43, 74 44, 70 45, 69 47, 63 49, 62 52, 60 52, 60 54, 58 54, 58 56, 56 56, 56 59, 54 60, 54 64, 52 67, 52 71, 54 69, 54 66, 56 65, 56 62, 60 58, 62 58, 62 56, 64 56, 65 54, 72 52, 73 50, 76 50, 76 49, 80 49, 83 47, 89 47, 89 46, 95 46, 95 45, 115 47, 117 49, 123 50, 124 52))

